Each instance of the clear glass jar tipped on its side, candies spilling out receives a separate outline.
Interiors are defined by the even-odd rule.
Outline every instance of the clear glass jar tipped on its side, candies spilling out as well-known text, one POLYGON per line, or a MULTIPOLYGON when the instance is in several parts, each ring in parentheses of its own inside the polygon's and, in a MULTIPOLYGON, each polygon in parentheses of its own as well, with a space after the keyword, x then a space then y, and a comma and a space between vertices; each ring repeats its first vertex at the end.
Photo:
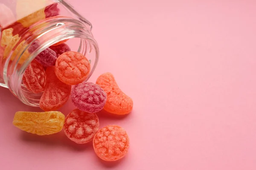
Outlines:
POLYGON ((0 0, 0 16, 0 86, 21 102, 39 106, 42 93, 29 91, 22 77, 30 62, 51 45, 65 42, 71 51, 83 54, 91 64, 87 79, 93 74, 99 47, 92 25, 68 0, 0 0))

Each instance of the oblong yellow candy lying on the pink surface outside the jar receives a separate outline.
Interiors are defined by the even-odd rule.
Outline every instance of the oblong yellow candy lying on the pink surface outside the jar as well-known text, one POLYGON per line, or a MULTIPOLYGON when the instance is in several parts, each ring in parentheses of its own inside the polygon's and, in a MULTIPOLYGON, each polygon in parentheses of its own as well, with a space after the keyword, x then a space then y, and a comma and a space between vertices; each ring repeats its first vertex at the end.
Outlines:
POLYGON ((13 125, 21 130, 37 135, 50 135, 62 130, 65 116, 58 111, 15 113, 13 125))

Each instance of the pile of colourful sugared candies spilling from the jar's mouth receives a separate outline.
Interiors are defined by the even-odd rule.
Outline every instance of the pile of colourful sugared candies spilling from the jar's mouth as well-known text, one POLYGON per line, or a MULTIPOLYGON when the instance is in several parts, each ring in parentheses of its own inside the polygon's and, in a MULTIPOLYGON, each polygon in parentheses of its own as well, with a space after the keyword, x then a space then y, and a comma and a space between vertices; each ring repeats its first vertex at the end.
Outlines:
POLYGON ((100 75, 96 84, 85 81, 89 74, 88 59, 70 51, 65 43, 42 51, 26 68, 23 85, 33 93, 43 93, 39 106, 45 112, 16 112, 13 125, 37 135, 50 135, 64 129, 73 142, 93 141, 96 155, 105 161, 124 157, 129 148, 126 131, 117 125, 99 129, 96 113, 104 109, 113 114, 128 114, 133 101, 120 90, 111 73, 100 75), (69 98, 76 109, 65 118, 56 110, 69 98))

